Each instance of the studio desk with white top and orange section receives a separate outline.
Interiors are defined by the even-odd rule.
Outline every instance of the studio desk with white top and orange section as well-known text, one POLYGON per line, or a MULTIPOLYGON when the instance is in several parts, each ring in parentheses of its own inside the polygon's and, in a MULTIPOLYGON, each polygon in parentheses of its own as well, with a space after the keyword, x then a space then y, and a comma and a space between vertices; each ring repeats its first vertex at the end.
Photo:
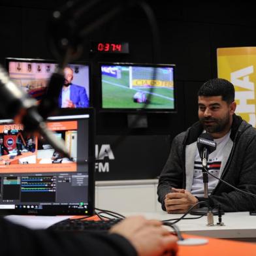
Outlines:
MULTIPOLYGON (((167 214, 166 212, 122 212, 124 216, 142 215, 148 219, 175 219, 182 214, 167 214)), ((32 229, 46 229, 53 223, 68 216, 7 216, 14 223, 25 225, 32 229)), ((70 216, 69 216, 70 217, 70 216)), ((187 215, 186 217, 197 217, 187 215)), ((214 223, 218 217, 214 216, 214 223)), ((256 216, 249 212, 225 213, 222 217, 224 226, 207 226, 207 217, 200 219, 184 219, 176 223, 187 238, 203 238, 208 242, 204 245, 179 246, 177 256, 207 255, 207 256, 255 256, 256 255, 256 216), (225 239, 219 239, 225 238, 225 239), (241 242, 246 241, 246 242, 241 242)))

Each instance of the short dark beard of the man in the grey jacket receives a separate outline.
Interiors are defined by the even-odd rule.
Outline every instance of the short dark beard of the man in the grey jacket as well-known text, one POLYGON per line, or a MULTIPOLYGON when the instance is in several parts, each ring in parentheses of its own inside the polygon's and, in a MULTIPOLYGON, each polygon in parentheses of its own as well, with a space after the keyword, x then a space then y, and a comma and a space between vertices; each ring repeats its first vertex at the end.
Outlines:
POLYGON ((202 123, 202 126, 204 127, 204 130, 208 133, 220 133, 221 131, 224 131, 227 125, 230 123, 230 116, 229 113, 227 115, 220 119, 220 118, 200 118, 200 123, 202 123), (207 125, 205 121, 213 121, 214 123, 211 123, 207 125))

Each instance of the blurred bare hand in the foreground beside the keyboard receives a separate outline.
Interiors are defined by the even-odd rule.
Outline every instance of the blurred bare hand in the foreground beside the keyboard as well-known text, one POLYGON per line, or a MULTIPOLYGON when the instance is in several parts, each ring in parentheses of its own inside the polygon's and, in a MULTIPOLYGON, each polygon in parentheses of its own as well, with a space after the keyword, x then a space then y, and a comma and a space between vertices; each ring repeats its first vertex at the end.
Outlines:
POLYGON ((138 256, 172 255, 177 251, 177 238, 162 227, 161 221, 142 216, 127 217, 110 229, 124 236, 136 249, 138 256))

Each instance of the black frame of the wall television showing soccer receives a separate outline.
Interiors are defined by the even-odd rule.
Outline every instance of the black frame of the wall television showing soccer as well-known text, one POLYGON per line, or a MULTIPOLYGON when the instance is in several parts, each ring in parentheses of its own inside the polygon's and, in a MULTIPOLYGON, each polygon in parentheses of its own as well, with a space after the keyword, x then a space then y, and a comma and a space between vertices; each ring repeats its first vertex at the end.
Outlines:
POLYGON ((123 112, 131 114, 147 114, 147 113, 176 113, 177 112, 177 85, 176 85, 176 65, 175 64, 163 64, 163 63, 131 63, 131 62, 99 62, 99 95, 100 95, 100 112, 123 112), (135 67, 172 67, 173 69, 173 95, 174 95, 174 108, 104 108, 103 107, 103 85, 101 76, 101 67, 103 65, 123 65, 123 66, 135 66, 135 67))

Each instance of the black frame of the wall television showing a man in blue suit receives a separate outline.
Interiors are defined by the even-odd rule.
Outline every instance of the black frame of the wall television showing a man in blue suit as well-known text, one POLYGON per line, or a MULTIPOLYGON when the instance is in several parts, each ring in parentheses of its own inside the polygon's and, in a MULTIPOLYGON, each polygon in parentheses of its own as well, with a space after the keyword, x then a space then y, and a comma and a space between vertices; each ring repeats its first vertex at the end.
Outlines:
MULTIPOLYGON (((40 59, 40 58, 20 58, 20 57, 5 57, 5 69, 7 69, 8 74, 9 72, 9 63, 11 61, 16 62, 31 62, 31 63, 51 63, 51 64, 58 64, 58 62, 54 59, 40 59)), ((92 74, 91 74, 91 63, 89 61, 71 61, 68 63, 68 65, 86 65, 88 66, 88 88, 89 88, 89 107, 92 106, 92 74)), ((71 108, 74 109, 74 108, 71 108)))

